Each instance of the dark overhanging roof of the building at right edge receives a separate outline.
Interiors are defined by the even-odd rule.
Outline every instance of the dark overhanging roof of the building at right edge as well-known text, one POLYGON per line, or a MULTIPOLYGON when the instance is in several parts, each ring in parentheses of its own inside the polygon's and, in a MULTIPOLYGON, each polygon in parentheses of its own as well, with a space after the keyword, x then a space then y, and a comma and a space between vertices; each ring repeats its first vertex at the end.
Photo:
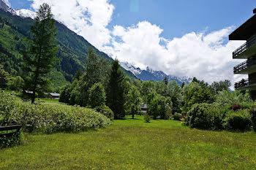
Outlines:
MULTIPOLYGON (((256 9, 253 10, 256 13, 256 9)), ((247 40, 256 34, 256 15, 249 18, 243 25, 239 26, 233 33, 230 34, 230 40, 247 40)))

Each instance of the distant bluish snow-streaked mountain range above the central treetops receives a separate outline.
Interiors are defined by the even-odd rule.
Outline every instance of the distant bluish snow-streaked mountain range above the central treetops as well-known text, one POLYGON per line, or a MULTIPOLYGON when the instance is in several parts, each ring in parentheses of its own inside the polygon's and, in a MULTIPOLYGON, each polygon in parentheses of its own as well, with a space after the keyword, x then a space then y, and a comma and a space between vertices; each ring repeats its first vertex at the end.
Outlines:
POLYGON ((136 77, 138 77, 142 81, 147 80, 153 80, 155 82, 164 80, 165 77, 167 77, 167 80, 176 80, 179 85, 182 85, 182 82, 185 84, 192 82, 192 78, 190 77, 176 77, 172 75, 167 75, 162 71, 154 71, 153 69, 150 69, 149 67, 146 68, 146 70, 142 70, 138 67, 132 66, 132 64, 128 62, 121 62, 121 66, 124 67, 124 69, 129 70, 134 74, 136 77))

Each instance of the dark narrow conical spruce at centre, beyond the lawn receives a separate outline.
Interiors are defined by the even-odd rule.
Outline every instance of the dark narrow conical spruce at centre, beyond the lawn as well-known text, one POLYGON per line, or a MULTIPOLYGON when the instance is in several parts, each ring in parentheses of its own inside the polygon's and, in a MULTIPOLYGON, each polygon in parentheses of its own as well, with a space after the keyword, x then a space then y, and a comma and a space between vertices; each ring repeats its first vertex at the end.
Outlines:
POLYGON ((107 105, 114 112, 115 119, 124 118, 124 74, 118 60, 113 61, 107 89, 107 105))

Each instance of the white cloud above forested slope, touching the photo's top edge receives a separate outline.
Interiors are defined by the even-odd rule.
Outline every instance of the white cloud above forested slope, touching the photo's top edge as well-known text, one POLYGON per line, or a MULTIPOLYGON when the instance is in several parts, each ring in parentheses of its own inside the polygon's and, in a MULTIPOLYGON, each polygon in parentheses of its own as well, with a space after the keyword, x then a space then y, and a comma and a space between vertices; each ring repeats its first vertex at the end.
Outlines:
POLYGON ((92 45, 102 49, 110 43, 110 23, 114 6, 108 0, 31 0, 31 7, 39 9, 48 3, 56 20, 64 23, 72 31, 83 36, 92 45))

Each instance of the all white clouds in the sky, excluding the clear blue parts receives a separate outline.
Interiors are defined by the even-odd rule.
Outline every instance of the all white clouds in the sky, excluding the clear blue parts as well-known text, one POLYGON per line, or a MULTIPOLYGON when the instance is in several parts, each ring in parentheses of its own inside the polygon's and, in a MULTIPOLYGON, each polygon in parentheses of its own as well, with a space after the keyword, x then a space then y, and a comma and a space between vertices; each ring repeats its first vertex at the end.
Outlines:
POLYGON ((227 42, 232 27, 206 34, 206 31, 190 32, 180 38, 162 37, 163 29, 148 21, 124 28, 107 28, 114 6, 108 0, 30 0, 35 10, 43 2, 50 4, 56 20, 83 36, 92 45, 121 61, 146 66, 176 76, 197 77, 206 82, 231 80, 233 66, 241 60, 233 60, 232 52, 243 42, 227 42))

